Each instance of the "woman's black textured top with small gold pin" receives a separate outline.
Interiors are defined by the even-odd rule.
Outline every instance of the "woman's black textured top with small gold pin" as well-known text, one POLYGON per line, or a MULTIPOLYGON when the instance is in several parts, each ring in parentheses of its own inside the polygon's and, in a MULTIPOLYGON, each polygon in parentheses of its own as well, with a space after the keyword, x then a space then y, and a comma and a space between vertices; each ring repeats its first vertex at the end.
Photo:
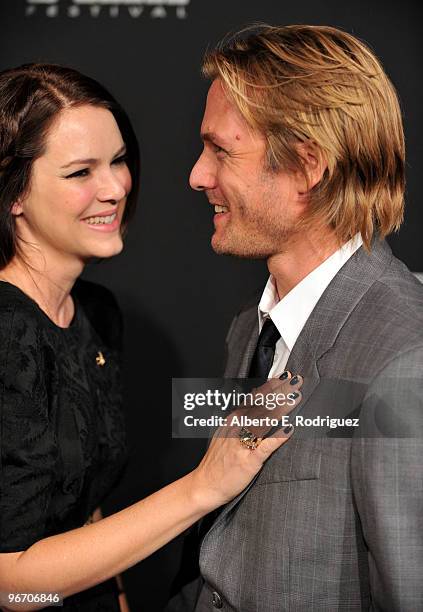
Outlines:
MULTIPOLYGON (((81 527, 126 460, 121 316, 110 292, 78 281, 70 327, 0 282, 0 552, 81 527)), ((115 581, 65 600, 118 610, 115 581)))

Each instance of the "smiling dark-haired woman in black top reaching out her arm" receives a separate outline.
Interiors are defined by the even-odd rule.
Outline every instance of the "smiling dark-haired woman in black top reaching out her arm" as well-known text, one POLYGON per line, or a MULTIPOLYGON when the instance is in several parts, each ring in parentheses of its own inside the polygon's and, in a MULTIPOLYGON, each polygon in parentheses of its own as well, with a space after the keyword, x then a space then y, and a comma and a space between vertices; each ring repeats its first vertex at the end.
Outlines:
POLYGON ((283 439, 250 452, 226 432, 193 472, 101 519, 125 462, 120 315, 77 279, 122 249, 136 139, 98 83, 52 65, 0 74, 0 117, 0 592, 119 610, 112 577, 233 498, 283 439))

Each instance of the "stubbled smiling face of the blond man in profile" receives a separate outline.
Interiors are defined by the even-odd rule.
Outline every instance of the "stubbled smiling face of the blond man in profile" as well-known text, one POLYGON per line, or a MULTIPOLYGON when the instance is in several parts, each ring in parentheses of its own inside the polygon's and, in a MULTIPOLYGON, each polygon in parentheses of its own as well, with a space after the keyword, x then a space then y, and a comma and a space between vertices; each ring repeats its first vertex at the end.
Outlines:
POLYGON ((201 137, 190 185, 215 207, 213 249, 252 258, 284 252, 304 214, 302 179, 266 168, 264 137, 249 128, 219 80, 207 96, 201 137))

